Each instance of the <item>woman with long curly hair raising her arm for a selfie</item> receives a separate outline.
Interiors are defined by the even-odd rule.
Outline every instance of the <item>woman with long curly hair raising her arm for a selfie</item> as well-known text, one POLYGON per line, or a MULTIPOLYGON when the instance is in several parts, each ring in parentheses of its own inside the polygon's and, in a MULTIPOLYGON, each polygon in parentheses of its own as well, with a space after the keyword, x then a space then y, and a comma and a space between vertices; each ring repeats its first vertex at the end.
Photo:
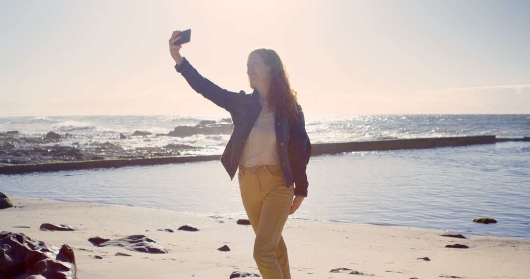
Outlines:
POLYGON ((265 279, 290 278, 281 231, 288 215, 307 197, 306 164, 311 142, 302 107, 273 50, 250 53, 247 74, 252 94, 222 89, 202 77, 180 55, 180 31, 169 40, 175 70, 202 96, 226 109, 234 131, 221 156, 231 180, 238 169, 241 199, 256 234, 254 259, 265 279), (294 198, 294 199, 293 199, 294 198))

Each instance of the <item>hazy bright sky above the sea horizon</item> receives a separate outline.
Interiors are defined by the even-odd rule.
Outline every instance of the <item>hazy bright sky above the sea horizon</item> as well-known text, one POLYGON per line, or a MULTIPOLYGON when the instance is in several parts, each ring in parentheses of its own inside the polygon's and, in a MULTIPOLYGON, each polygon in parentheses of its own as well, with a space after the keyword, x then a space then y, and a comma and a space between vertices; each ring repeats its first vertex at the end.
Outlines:
POLYGON ((529 114, 530 1, 0 0, 0 115, 224 116, 273 49, 305 114, 529 114))

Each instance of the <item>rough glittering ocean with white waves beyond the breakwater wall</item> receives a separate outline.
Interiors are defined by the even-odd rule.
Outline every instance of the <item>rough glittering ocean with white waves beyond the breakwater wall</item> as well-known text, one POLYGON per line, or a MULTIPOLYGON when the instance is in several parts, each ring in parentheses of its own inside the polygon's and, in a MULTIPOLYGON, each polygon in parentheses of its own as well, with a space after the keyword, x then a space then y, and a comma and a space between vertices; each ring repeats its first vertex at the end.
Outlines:
MULTIPOLYGON (((227 114, 228 116, 228 114, 227 114)), ((377 141, 394 138, 497 135, 530 136, 530 115, 349 115, 306 117, 306 130, 312 143, 377 141)), ((229 119, 229 118, 224 118, 229 119)), ((19 131, 22 136, 42 137, 52 131, 73 137, 61 145, 89 146, 110 142, 127 149, 185 144, 198 147, 182 155, 223 153, 230 135, 174 137, 167 134, 177 126, 195 126, 202 120, 223 123, 223 118, 190 116, 19 116, 0 117, 0 132, 19 131), (134 131, 152 135, 131 136, 134 131), (119 139, 120 133, 127 139, 119 139)), ((50 143, 53 145, 55 143, 50 143)))

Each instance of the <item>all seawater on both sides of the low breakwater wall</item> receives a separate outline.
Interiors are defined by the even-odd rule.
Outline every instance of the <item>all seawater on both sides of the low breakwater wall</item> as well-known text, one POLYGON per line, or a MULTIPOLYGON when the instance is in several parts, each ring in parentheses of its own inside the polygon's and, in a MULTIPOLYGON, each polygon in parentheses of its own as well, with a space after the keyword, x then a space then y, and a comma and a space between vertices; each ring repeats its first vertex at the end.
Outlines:
MULTIPOLYGON (((204 119, 4 117, 0 132, 68 132, 108 141, 116 133, 167 133, 175 126, 193 126, 200 120, 204 119)), ((530 136, 530 115, 307 117, 306 128, 312 142, 463 135, 523 137, 530 136)), ((218 144, 220 154, 228 136, 172 139, 159 135, 146 143, 164 145, 165 140, 178 140, 190 144, 195 137, 197 145, 202 141, 218 144)), ((135 140, 146 144, 143 139, 135 140)), ((530 239, 529 159, 530 142, 314 156, 307 165, 308 197, 291 218, 530 239), (478 217, 494 218, 498 223, 473 223, 478 217)), ((244 215, 237 176, 231 181, 218 161, 0 175, 0 191, 34 198, 244 215)))

